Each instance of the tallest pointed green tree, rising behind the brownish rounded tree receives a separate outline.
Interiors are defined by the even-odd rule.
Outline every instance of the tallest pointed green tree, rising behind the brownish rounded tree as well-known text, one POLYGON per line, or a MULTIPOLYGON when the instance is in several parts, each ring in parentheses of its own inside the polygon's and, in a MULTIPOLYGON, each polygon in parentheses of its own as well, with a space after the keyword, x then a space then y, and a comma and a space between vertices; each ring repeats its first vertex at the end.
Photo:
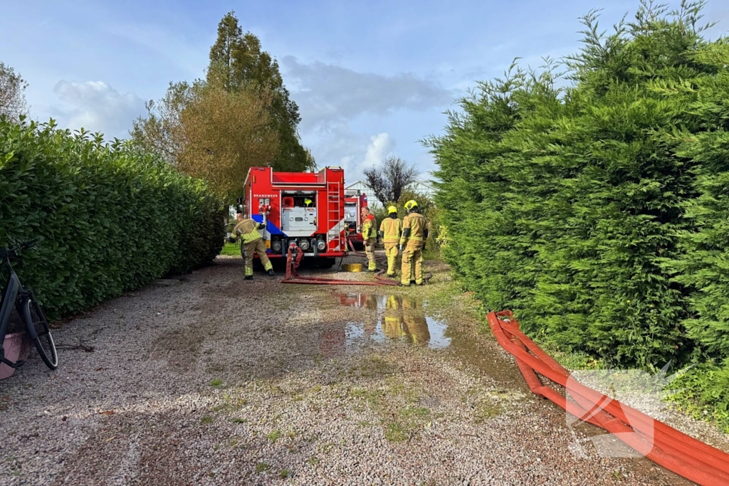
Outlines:
POLYGON ((230 93, 255 87, 273 93, 269 113, 271 127, 278 133, 279 149, 273 166, 281 171, 316 168, 316 162, 301 145, 299 107, 289 97, 278 61, 261 48, 251 34, 243 34, 235 12, 228 12, 218 24, 218 38, 210 49, 208 83, 222 85, 230 93))

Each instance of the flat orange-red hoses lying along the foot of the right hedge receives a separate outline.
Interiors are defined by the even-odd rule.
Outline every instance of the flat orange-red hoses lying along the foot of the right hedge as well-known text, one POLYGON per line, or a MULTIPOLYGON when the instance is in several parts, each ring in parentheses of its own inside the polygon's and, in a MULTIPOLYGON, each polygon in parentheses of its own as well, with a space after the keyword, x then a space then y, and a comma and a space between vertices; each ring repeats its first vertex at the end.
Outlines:
POLYGON ((533 393, 550 399, 570 415, 614 434, 636 452, 679 476, 699 485, 729 485, 729 454, 726 452, 620 404, 574 379, 569 383, 570 398, 574 401, 567 400, 566 396, 545 386, 539 375, 566 387, 569 372, 521 332, 510 310, 488 313, 488 325, 499 345, 516 358, 516 364, 533 393))

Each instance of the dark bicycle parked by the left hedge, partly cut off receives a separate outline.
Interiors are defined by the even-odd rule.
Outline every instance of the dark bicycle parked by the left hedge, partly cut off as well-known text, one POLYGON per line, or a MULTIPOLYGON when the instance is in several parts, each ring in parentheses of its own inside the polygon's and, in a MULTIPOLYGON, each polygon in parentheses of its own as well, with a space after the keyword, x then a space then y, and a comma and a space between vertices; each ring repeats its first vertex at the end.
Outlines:
POLYGON ((10 259, 18 258, 20 251, 36 246, 41 240, 42 238, 35 238, 21 243, 15 248, 0 248, 2 267, 7 267, 9 270, 7 283, 5 283, 1 294, 2 300, 0 301, 0 363, 7 364, 11 368, 20 367, 24 362, 17 361, 13 363, 5 358, 5 350, 2 346, 9 328, 13 305, 15 305, 20 317, 23 318, 28 334, 33 339, 36 350, 38 350, 46 366, 50 369, 58 367, 58 353, 56 353, 55 343, 48 328, 48 320, 36 301, 33 291, 23 288, 20 278, 17 277, 15 270, 12 269, 12 264, 10 264, 10 259))

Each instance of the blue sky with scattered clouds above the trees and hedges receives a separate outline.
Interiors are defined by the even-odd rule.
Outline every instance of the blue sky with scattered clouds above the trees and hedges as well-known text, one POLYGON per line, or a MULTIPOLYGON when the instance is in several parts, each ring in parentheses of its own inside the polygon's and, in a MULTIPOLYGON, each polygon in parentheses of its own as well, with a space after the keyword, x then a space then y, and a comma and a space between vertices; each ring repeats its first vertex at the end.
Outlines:
MULTIPOLYGON (((676 5, 677 1, 668 1, 676 5)), ((347 181, 389 154, 424 173, 418 140, 440 134, 443 112, 479 80, 579 48, 577 17, 603 8, 612 26, 637 0, 537 1, 37 1, 0 0, 0 60, 29 83, 31 117, 125 138, 144 101, 169 82, 202 77, 217 23, 230 10, 278 59, 300 106, 303 143, 347 181)), ((729 7, 703 20, 729 31, 729 7)))

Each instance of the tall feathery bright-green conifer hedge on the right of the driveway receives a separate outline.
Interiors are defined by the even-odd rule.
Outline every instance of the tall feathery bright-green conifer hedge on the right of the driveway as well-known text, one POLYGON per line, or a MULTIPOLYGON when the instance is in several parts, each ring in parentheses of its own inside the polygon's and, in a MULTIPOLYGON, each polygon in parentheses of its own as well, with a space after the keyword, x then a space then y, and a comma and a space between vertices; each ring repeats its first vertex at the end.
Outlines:
POLYGON ((608 366, 729 382, 729 48, 700 11, 644 3, 609 36, 588 15, 580 52, 481 83, 426 145, 445 257, 486 307, 608 366))

